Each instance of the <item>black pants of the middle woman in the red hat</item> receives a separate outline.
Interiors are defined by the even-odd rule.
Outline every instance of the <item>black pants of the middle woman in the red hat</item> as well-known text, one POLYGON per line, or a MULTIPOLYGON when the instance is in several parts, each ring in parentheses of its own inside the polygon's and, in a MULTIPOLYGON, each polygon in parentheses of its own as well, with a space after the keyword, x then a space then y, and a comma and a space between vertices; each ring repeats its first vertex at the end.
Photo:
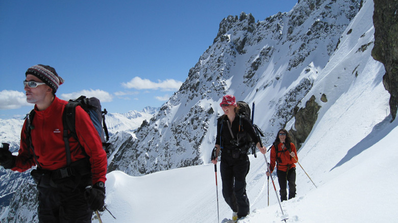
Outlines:
POLYGON ((250 203, 246 194, 246 175, 250 169, 250 161, 246 154, 234 159, 231 154, 221 154, 222 196, 232 211, 238 216, 246 216, 250 212, 250 203))

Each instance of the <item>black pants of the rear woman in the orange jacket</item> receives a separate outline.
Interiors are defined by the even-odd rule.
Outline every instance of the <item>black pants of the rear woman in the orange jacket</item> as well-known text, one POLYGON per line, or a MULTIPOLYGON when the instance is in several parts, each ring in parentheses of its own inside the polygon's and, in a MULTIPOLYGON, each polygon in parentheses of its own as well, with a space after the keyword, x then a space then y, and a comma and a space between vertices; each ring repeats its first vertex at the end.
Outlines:
POLYGON ((277 175, 281 201, 287 201, 287 182, 289 182, 289 199, 294 198, 296 196, 296 169, 291 168, 287 172, 277 170, 277 175))

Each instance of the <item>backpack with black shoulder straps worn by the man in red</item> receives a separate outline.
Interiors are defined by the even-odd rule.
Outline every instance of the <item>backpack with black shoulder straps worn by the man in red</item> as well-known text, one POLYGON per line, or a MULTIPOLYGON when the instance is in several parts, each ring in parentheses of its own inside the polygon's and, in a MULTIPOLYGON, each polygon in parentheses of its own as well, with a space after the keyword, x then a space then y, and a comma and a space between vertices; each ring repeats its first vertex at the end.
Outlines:
MULTIPOLYGON (((98 98, 91 97, 87 98, 86 96, 82 95, 78 99, 73 99, 69 100, 69 102, 66 104, 64 108, 64 112, 62 114, 62 123, 64 126, 64 132, 63 132, 63 137, 64 137, 64 142, 65 142, 65 151, 66 151, 66 161, 67 161, 67 166, 70 165, 71 163, 71 157, 70 157, 70 148, 69 148, 69 141, 68 139, 70 137, 78 138, 76 134, 76 126, 75 126, 75 116, 76 116, 76 106, 81 106, 87 114, 90 116, 90 119, 95 127, 95 129, 98 131, 98 135, 101 137, 101 141, 103 144, 103 148, 105 152, 109 152, 109 145, 110 143, 107 143, 109 140, 109 133, 108 133, 108 128, 105 123, 105 115, 108 113, 106 109, 102 111, 101 108, 101 102, 99 101, 98 98), (68 130, 70 131, 70 134, 68 134, 68 130), (105 137, 106 136, 106 137, 105 137)), ((36 164, 40 167, 39 162, 37 161, 36 154, 34 152, 34 148, 32 145, 32 138, 31 138, 31 130, 34 128, 32 124, 33 118, 35 116, 35 109, 32 109, 31 112, 27 115, 27 136, 29 138, 31 150, 33 152, 36 164)))

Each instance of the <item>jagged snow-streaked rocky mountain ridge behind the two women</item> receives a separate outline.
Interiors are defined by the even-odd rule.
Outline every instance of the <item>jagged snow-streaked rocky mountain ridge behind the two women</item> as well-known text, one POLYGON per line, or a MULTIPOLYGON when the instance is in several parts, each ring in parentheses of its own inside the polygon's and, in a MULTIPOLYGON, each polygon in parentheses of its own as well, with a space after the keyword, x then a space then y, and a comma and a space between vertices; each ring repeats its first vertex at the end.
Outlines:
MULTIPOLYGON (((265 132, 264 144, 271 143, 295 113, 305 114, 296 106, 306 103, 301 100, 360 7, 351 0, 303 0, 264 21, 245 13, 223 19, 180 90, 137 129, 137 138, 120 146, 110 170, 137 176, 207 163, 225 94, 250 105, 256 101, 255 122, 265 132)), ((300 142, 315 121, 296 125, 300 142)))

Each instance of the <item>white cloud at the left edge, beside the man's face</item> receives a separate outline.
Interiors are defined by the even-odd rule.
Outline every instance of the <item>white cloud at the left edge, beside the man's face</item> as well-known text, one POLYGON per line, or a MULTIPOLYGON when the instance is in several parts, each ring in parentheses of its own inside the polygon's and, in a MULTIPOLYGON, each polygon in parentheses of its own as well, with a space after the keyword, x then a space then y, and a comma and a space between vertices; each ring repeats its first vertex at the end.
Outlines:
POLYGON ((0 109, 16 109, 21 106, 32 106, 26 101, 25 93, 19 91, 3 90, 0 92, 0 109))

